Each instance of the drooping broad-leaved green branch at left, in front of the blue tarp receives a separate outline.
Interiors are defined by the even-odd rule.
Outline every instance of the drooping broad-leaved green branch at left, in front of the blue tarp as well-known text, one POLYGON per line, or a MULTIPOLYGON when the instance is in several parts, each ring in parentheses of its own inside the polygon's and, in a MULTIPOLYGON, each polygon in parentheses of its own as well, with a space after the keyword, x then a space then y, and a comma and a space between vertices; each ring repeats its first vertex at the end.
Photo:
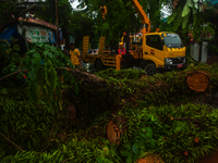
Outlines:
MULTIPOLYGON (((13 51, 12 51, 13 54, 13 51)), ((13 55, 12 55, 13 57, 13 55)), ((19 58, 21 60, 21 58, 19 58)), ((19 61, 20 61, 19 60, 19 61)), ((57 67, 73 68, 71 61, 56 47, 49 45, 36 45, 22 59, 22 63, 10 61, 8 66, 4 66, 2 72, 10 74, 21 68, 27 71, 26 84, 29 88, 31 99, 34 101, 43 100, 48 105, 60 105, 60 84, 61 80, 57 75, 57 67), (22 64, 23 63, 23 64, 22 64), (22 64, 22 65, 21 65, 22 64), (56 90, 56 96, 53 91, 56 90)), ((65 82, 71 80, 71 84, 77 86, 77 82, 71 76, 69 71, 60 71, 65 82)), ((24 76, 23 72, 19 73, 24 76)), ((77 90, 77 87, 75 88, 77 90)))

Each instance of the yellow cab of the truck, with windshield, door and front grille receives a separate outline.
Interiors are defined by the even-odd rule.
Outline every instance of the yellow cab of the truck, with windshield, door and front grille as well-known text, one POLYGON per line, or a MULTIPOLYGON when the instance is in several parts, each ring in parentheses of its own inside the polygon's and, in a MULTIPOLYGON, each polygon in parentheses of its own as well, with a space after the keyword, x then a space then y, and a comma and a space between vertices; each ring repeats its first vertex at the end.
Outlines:
POLYGON ((143 59, 150 63, 150 66, 153 63, 157 68, 177 70, 184 67, 185 50, 186 47, 179 35, 174 33, 149 33, 143 38, 143 59))

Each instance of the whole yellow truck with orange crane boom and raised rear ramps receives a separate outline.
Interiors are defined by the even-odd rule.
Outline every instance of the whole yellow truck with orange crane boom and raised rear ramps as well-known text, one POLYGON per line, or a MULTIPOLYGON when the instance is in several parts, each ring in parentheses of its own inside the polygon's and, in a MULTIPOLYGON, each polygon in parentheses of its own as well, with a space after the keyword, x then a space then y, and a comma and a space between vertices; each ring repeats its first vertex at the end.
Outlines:
MULTIPOLYGON (((148 75, 154 75, 158 70, 178 70, 185 65, 186 47, 175 33, 159 32, 150 33, 149 18, 145 14, 137 0, 130 0, 138 12, 144 27, 143 36, 128 36, 125 40, 128 66, 140 66, 148 75), (133 41, 134 40, 134 41, 133 41), (136 40, 136 41, 135 41, 136 40)), ((83 39, 82 60, 94 63, 97 71, 105 66, 117 67, 120 61, 116 53, 104 53, 105 37, 100 37, 98 54, 87 54, 89 37, 83 39)), ((122 41, 122 40, 121 40, 122 41)), ((119 70, 119 68, 117 68, 119 70)))

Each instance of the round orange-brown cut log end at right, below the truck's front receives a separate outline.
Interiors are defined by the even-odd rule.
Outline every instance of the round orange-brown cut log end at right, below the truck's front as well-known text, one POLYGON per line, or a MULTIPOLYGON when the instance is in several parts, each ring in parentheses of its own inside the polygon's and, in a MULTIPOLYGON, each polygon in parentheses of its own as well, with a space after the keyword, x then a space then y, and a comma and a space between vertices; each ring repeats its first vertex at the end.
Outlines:
POLYGON ((204 92, 208 88, 209 76, 206 73, 197 71, 187 74, 189 76, 186 79, 186 84, 190 89, 197 92, 204 92))

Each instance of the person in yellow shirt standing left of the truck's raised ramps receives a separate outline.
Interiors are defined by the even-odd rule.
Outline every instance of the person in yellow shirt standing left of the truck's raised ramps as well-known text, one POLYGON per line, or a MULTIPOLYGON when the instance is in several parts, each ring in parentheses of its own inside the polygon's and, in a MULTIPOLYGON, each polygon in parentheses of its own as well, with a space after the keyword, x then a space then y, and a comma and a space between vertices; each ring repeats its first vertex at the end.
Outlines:
POLYGON ((70 55, 71 62, 75 65, 76 68, 81 68, 81 53, 77 49, 75 49, 74 43, 70 43, 70 55))

